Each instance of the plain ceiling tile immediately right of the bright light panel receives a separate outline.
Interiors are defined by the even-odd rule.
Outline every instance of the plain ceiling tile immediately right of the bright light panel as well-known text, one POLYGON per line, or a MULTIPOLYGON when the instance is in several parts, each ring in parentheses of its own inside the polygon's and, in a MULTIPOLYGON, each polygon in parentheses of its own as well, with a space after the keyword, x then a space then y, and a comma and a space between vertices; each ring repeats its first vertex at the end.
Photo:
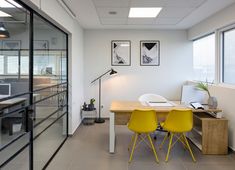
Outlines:
POLYGON ((159 18, 183 18, 189 15, 195 8, 176 8, 176 7, 166 7, 163 8, 159 18))

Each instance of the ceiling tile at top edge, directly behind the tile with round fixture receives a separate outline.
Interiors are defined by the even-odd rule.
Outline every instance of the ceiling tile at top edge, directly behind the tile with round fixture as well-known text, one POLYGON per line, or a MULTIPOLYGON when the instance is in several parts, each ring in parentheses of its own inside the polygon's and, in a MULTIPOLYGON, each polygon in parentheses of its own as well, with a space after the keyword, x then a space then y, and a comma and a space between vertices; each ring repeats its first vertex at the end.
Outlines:
POLYGON ((129 7, 129 0, 93 0, 96 7, 129 7))

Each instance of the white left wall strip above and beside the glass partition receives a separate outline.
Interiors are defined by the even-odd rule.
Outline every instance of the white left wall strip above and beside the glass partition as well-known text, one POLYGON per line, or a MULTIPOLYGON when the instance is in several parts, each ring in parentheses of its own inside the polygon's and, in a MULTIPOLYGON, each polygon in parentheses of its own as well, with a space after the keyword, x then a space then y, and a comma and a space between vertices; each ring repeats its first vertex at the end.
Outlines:
POLYGON ((23 1, 69 33, 69 133, 73 134, 81 123, 80 106, 84 101, 83 29, 56 0, 30 0, 33 4, 23 1))

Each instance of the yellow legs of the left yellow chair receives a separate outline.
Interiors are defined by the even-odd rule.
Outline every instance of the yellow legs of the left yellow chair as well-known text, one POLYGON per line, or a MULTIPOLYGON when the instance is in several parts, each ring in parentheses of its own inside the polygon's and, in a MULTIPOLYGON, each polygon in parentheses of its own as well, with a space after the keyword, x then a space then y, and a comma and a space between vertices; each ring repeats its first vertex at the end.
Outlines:
POLYGON ((155 147, 154 147, 154 145, 153 145, 153 142, 152 142, 152 139, 151 139, 149 133, 147 133, 145 137, 141 136, 141 134, 135 133, 135 135, 132 136, 132 141, 133 141, 133 138, 134 138, 134 143, 133 143, 133 146, 132 146, 132 150, 131 150, 131 155, 130 155, 129 163, 132 161, 134 150, 138 147, 138 145, 139 145, 142 141, 144 141, 144 142, 147 144, 147 146, 150 147, 150 149, 153 150, 155 159, 156 159, 157 163, 159 163, 158 156, 157 156, 155 147), (140 140, 140 141, 138 142, 138 144, 136 145, 137 140, 138 140, 139 137, 141 138, 141 140, 140 140), (149 143, 150 143, 151 146, 145 141, 145 138, 146 138, 146 137, 148 137, 148 140, 149 140, 149 143))

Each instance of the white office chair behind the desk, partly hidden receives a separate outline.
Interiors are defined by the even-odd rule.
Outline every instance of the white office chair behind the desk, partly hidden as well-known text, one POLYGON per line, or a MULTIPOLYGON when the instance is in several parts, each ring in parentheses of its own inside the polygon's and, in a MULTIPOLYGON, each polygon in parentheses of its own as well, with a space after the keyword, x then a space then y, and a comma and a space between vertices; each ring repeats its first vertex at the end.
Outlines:
MULTIPOLYGON (((140 102, 146 102, 146 103, 148 103, 148 102, 167 102, 167 99, 166 99, 165 97, 160 96, 160 95, 157 95, 157 94, 151 94, 151 93, 147 93, 147 94, 141 95, 141 96, 138 98, 138 100, 139 100, 140 102)), ((165 130, 161 127, 160 123, 158 123, 158 126, 157 126, 157 128, 156 128, 156 131, 167 132, 167 131, 165 131, 165 130)), ((154 139, 155 139, 155 140, 157 139, 157 135, 156 135, 156 134, 154 134, 154 139)))

